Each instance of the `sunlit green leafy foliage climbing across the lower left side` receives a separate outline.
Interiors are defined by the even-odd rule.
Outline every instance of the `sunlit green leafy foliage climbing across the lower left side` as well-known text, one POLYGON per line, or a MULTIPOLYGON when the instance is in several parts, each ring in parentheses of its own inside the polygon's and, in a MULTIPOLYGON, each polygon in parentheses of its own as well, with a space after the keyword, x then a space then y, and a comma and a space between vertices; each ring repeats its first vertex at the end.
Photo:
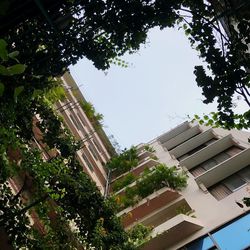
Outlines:
POLYGON ((8 248, 85 249, 91 244, 97 249, 131 249, 112 204, 76 159, 80 143, 51 106, 63 96, 60 91, 52 94, 58 83, 29 76, 26 67, 16 63, 18 53, 9 52, 5 41, 0 44, 0 231, 8 248), (34 86, 26 83, 28 78, 34 86), (43 81, 49 83, 46 88, 36 88, 43 81), (39 120, 34 119, 37 114, 39 120), (42 132, 48 161, 32 145, 34 128, 42 132), (60 153, 51 155, 55 148, 60 153), (15 194, 9 188, 12 180, 15 194))

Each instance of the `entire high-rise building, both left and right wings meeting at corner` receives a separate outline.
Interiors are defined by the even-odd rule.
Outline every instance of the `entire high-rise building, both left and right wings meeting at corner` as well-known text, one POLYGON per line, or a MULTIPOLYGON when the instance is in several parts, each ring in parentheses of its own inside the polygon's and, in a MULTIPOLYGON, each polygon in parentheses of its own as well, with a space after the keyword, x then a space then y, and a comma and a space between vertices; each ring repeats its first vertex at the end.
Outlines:
POLYGON ((126 230, 137 224, 151 228, 141 249, 250 249, 250 214, 242 202, 250 196, 250 133, 184 122, 138 145, 133 168, 116 175, 114 171, 109 179, 105 165, 114 155, 112 146, 98 121, 84 111, 86 100, 69 73, 62 83, 66 98, 56 110, 64 126, 82 142, 76 154, 83 171, 104 195, 109 184, 110 195, 125 204, 117 215, 126 230), (148 178, 157 171, 165 175, 162 167, 172 166, 169 176, 184 173, 185 187, 178 178, 148 178), (134 191, 139 185, 144 185, 141 197, 134 191))

